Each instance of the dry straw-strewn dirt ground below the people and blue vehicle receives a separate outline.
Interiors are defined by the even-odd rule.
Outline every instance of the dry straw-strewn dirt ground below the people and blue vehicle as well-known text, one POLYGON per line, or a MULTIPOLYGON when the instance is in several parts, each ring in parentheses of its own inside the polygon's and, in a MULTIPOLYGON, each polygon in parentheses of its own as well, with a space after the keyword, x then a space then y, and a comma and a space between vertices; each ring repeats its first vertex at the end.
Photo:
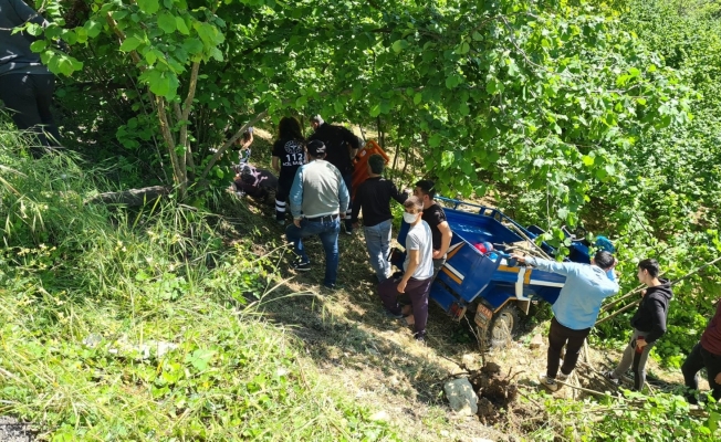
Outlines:
MULTIPOLYGON (((263 166, 265 158, 258 162, 263 166)), ((477 203, 493 206, 492 200, 477 203)), ((232 224, 240 235, 255 235, 260 254, 263 243, 282 241, 284 229, 274 223, 273 207, 252 200, 238 206, 242 221, 232 224), (263 225, 260 235, 252 225, 263 225)), ((539 423, 543 406, 526 397, 543 389, 539 376, 546 365, 547 322, 525 327, 508 347, 482 355, 470 327, 452 322, 431 303, 426 345, 419 345, 409 326, 385 316, 362 231, 341 233, 341 288, 332 293, 321 288, 324 256, 320 241, 310 239, 305 245, 313 271, 294 274, 285 270, 290 261, 283 257, 279 267, 289 280, 263 299, 262 309, 304 343, 324 376, 344 386, 375 417, 395 422, 414 441, 525 440, 529 431, 543 423, 539 423), (544 336, 543 344, 532 349, 530 341, 536 334, 544 336), (469 377, 480 398, 479 413, 470 418, 453 413, 443 396, 443 383, 462 376, 469 377)), ((617 391, 602 372, 615 366, 621 350, 585 350, 570 379, 581 389, 563 387, 554 396, 583 400, 593 393, 582 389, 617 391)), ((648 371, 651 389, 671 390, 682 383, 680 372, 662 370, 655 361, 649 361, 648 371)), ((702 383, 702 388, 708 386, 702 383)))

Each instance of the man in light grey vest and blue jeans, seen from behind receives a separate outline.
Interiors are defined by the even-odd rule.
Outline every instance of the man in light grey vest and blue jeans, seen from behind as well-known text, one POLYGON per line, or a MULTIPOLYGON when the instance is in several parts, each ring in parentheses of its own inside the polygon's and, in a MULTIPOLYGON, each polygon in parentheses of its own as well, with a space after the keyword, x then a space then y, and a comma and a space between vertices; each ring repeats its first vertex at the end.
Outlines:
POLYGON ((338 169, 325 161, 325 145, 317 139, 305 147, 307 165, 297 169, 291 187, 290 202, 293 223, 285 229, 285 238, 293 243, 297 261, 292 269, 311 270, 303 238, 318 235, 325 251, 323 285, 335 288, 338 274, 338 233, 341 219, 348 208, 348 189, 338 169))

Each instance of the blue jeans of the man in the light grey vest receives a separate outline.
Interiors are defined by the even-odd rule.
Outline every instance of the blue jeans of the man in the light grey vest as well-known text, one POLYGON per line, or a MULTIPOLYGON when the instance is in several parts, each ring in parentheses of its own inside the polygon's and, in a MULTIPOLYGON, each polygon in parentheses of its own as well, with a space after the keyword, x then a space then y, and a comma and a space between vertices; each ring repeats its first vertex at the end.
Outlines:
POLYGON ((336 217, 331 219, 325 217, 321 222, 313 222, 306 219, 301 220, 301 227, 290 224, 285 228, 285 238, 293 243, 293 251, 306 263, 311 260, 305 253, 303 238, 318 235, 325 250, 325 280, 324 285, 335 284, 338 276, 338 233, 341 232, 341 221, 336 217))

